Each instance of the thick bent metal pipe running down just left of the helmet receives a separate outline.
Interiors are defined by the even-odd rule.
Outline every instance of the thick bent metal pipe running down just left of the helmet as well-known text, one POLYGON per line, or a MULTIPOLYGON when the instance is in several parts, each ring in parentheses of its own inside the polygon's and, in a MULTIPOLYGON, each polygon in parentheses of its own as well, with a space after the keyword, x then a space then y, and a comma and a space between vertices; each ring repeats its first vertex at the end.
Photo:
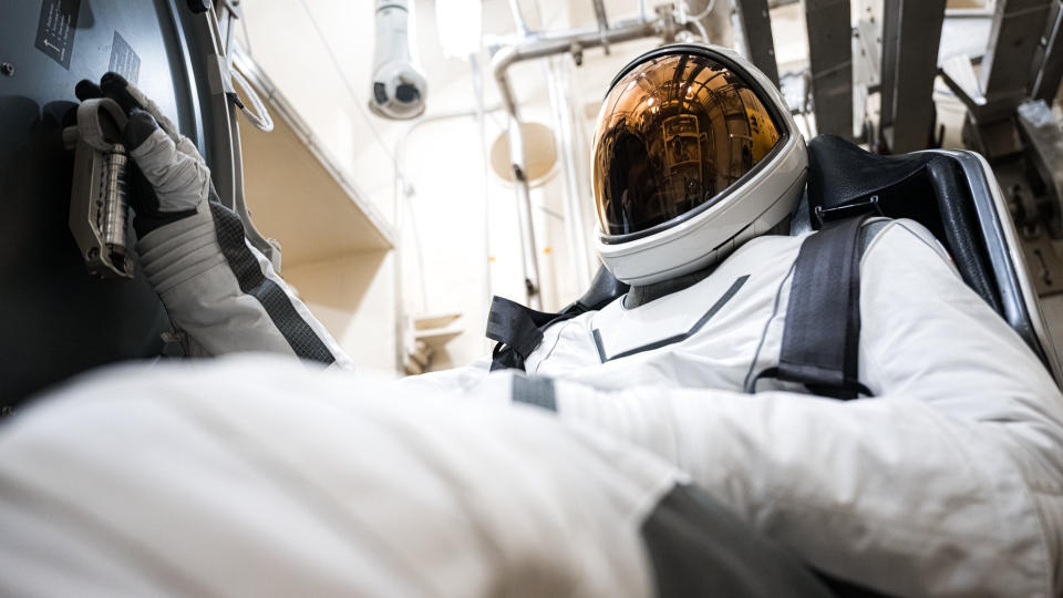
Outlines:
MULTIPOLYGON (((541 303, 539 297, 539 266, 535 245, 535 229, 532 224, 532 192, 528 188, 524 159, 524 135, 520 131, 520 115, 517 101, 509 84, 509 66, 517 62, 546 58, 553 54, 571 52, 575 55, 587 48, 598 48, 610 43, 621 43, 643 38, 674 38, 681 29, 671 12, 659 12, 652 21, 637 20, 617 23, 607 30, 578 29, 556 34, 528 38, 522 43, 498 50, 491 61, 491 70, 498 84, 498 94, 509 114, 509 161, 513 166, 514 190, 517 198, 517 219, 520 226, 520 252, 524 267, 526 302, 533 309, 541 303)), ((580 59, 577 58, 577 63, 580 59)))

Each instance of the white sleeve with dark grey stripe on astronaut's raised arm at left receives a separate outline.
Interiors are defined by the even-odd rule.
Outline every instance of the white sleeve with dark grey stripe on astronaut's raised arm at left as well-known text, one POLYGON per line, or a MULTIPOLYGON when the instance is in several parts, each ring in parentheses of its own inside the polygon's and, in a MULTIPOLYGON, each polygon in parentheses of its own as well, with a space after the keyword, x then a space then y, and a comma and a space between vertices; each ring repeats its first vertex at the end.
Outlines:
POLYGON ((271 352, 343 369, 350 358, 217 202, 137 243, 148 281, 189 352, 271 352))

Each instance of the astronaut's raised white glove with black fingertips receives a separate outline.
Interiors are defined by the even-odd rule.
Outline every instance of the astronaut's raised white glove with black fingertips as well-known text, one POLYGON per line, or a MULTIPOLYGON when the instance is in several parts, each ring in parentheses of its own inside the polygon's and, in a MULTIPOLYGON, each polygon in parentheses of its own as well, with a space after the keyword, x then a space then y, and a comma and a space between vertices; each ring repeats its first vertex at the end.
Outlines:
POLYGON ((182 135, 158 106, 122 75, 106 73, 100 84, 84 80, 74 93, 79 100, 110 97, 128 114, 122 137, 138 171, 133 173, 131 205, 138 238, 156 228, 196 213, 210 196, 210 169, 195 144, 182 135))

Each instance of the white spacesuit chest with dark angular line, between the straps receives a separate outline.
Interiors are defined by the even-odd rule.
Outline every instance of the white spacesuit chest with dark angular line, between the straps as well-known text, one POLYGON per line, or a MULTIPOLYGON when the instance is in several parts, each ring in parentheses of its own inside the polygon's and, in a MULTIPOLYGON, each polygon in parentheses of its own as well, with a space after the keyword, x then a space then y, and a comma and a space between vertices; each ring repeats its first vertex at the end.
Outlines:
POLYGON ((776 297, 788 293, 784 281, 801 241, 753 239, 685 289, 634 308, 621 297, 553 326, 525 370, 603 390, 660 384, 741 391, 753 370, 777 358, 782 317, 772 320, 772 312, 776 297), (770 321, 772 343, 762 348, 770 321), (758 349, 764 359, 756 359, 758 349))

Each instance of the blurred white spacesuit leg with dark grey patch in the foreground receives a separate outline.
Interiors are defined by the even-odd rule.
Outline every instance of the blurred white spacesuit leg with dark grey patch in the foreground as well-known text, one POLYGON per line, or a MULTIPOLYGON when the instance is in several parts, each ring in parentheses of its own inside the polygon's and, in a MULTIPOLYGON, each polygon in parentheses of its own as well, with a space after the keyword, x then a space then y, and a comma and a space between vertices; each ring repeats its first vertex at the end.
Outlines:
POLYGON ((21 413, 0 527, 4 596, 829 596, 644 451, 264 355, 21 413))

